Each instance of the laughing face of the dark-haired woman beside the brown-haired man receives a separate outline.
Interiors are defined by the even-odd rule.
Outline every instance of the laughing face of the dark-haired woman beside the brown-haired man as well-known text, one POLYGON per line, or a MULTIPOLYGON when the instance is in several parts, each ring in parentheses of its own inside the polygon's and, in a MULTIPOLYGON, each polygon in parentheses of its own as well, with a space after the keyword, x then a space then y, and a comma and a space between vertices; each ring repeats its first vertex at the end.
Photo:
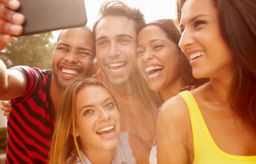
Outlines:
POLYGON ((159 26, 138 34, 137 63, 151 90, 165 90, 180 78, 180 52, 159 26))

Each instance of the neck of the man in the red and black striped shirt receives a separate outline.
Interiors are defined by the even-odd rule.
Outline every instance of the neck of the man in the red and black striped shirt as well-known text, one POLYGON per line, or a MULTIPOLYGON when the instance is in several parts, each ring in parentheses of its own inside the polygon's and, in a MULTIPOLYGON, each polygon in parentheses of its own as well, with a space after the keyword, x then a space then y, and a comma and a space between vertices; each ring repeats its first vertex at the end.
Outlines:
POLYGON ((64 92, 64 89, 59 86, 58 82, 56 81, 55 77, 52 76, 50 80, 50 98, 53 102, 53 107, 56 109, 56 106, 59 104, 61 94, 64 92))

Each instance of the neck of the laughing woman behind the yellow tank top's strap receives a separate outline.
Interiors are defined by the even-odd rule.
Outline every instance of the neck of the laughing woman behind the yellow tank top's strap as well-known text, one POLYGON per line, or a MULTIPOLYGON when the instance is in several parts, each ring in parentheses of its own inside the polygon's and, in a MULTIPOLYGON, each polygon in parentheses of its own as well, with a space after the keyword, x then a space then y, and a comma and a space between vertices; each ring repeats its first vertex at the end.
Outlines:
POLYGON ((179 77, 175 82, 170 83, 164 89, 159 90, 162 101, 165 102, 174 95, 177 95, 182 87, 186 87, 186 85, 183 79, 179 77))

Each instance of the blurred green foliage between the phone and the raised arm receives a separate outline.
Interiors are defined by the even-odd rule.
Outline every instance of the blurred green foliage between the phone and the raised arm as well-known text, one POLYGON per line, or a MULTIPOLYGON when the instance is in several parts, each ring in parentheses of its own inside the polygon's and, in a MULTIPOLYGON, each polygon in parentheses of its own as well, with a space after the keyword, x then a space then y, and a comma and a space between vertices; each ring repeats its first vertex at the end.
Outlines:
POLYGON ((0 58, 7 68, 23 65, 50 69, 51 55, 55 47, 52 40, 52 33, 14 37, 0 52, 0 58))

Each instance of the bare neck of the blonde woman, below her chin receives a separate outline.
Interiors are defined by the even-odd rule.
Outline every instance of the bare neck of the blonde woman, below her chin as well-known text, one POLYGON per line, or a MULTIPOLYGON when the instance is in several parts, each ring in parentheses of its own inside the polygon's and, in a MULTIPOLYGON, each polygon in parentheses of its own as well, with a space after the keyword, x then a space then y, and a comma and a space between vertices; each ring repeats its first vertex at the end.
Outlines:
POLYGON ((94 164, 110 164, 115 156, 116 149, 83 149, 88 160, 94 164), (85 153, 86 152, 86 153, 85 153))

